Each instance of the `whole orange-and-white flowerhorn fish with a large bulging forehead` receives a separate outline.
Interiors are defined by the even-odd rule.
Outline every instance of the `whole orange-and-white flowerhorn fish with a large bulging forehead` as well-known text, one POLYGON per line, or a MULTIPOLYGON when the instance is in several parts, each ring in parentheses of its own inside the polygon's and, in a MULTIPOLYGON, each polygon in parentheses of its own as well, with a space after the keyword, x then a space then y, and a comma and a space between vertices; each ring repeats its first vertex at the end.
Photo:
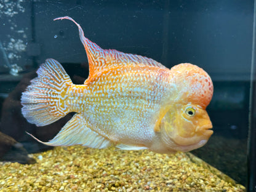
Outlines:
POLYGON ((49 142, 156 153, 190 151, 206 144, 213 131, 206 112, 213 94, 206 71, 190 63, 170 70, 151 58, 105 50, 79 37, 89 61, 84 84, 71 82, 62 65, 50 58, 22 93, 22 114, 46 126, 76 112, 49 142))

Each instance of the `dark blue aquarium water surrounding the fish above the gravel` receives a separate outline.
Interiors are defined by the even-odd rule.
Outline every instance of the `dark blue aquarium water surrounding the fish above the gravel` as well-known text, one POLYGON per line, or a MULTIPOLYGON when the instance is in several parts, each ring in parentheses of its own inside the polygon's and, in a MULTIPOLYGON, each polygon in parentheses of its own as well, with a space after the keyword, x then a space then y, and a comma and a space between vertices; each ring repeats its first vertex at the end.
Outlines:
MULTIPOLYGON (((55 58, 76 84, 89 73, 76 26, 67 20, 53 21, 68 15, 103 49, 143 55, 168 68, 189 62, 207 71, 214 82, 207 107, 214 134, 191 153, 247 185, 253 1, 19 0, 1 1, 0 8, 0 131, 22 143, 28 153, 50 148, 25 131, 47 141, 73 115, 40 129, 23 118, 20 96, 36 77, 36 68, 46 58, 55 58)), ((10 146, 15 143, 8 141, 10 146)), ((20 145, 15 146, 9 150, 0 145, 0 158, 33 161, 25 150, 17 152, 20 145)))

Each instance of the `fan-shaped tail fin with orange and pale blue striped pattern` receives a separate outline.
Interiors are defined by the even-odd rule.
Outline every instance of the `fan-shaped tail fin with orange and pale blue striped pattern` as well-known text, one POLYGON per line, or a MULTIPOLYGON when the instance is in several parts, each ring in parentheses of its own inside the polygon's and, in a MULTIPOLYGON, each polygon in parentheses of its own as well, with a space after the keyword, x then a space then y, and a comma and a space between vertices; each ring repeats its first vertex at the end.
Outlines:
POLYGON ((36 73, 38 77, 22 93, 22 114, 28 122, 46 126, 71 112, 66 100, 73 83, 62 65, 51 58, 36 73))

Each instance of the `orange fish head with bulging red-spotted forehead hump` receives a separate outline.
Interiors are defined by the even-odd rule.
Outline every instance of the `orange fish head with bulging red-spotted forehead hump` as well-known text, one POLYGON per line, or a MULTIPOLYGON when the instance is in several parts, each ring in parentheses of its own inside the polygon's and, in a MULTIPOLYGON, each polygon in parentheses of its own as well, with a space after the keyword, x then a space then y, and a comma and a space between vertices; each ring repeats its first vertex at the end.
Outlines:
POLYGON ((162 141, 170 150, 190 151, 204 145, 212 135, 206 112, 213 94, 206 71, 190 63, 171 70, 174 102, 161 120, 162 141))

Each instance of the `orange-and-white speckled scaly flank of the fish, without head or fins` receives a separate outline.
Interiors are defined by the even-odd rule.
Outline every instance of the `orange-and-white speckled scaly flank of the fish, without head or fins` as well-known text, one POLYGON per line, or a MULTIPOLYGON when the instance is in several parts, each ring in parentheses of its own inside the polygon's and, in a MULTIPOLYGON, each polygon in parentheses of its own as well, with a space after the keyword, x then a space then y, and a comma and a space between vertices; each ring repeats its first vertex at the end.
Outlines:
MULTIPOLYGON (((101 73, 84 87, 74 86, 74 90, 70 92, 72 111, 82 111, 82 116, 92 122, 93 126, 102 127, 99 130, 101 135, 113 138, 114 142, 135 138, 134 144, 139 144, 150 140, 153 135, 153 121, 158 118, 157 111, 161 108, 159 101, 162 93, 166 92, 165 85, 168 82, 162 83, 164 77, 160 78, 159 73, 146 73, 148 68, 159 71, 152 66, 129 66, 124 71, 101 73), (142 81, 142 85, 138 84, 142 81), (119 86, 116 87, 116 84, 119 86), (78 94, 78 90, 84 91, 78 94), (88 111, 95 112, 88 114, 88 111), (143 129, 138 129, 138 124, 143 129), (121 127, 126 131, 115 131, 121 127)), ((169 73, 165 75, 167 80, 169 73)))

